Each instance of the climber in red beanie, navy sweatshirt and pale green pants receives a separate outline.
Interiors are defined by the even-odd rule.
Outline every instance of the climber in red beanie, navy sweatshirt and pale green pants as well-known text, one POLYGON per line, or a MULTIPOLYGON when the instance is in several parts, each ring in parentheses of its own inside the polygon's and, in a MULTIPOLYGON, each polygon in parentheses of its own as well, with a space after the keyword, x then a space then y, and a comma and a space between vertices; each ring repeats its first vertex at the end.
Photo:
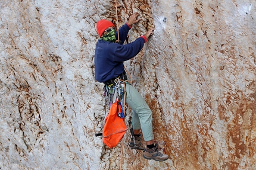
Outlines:
MULTIPOLYGON (((110 85, 115 78, 124 79, 126 77, 123 62, 141 52, 144 43, 154 33, 152 28, 132 43, 124 44, 132 25, 142 20, 138 16, 138 12, 135 12, 129 17, 127 23, 119 28, 120 43, 115 43, 117 31, 111 21, 99 20, 96 24, 96 30, 100 37, 95 48, 96 81, 110 85)), ((132 127, 135 134, 135 143, 130 142, 129 146, 132 149, 141 149, 143 135, 146 142, 146 149, 143 147, 143 158, 166 161, 168 155, 161 153, 158 150, 158 145, 154 145, 153 142, 152 111, 141 94, 129 83, 126 84, 126 102, 132 109, 132 127)))

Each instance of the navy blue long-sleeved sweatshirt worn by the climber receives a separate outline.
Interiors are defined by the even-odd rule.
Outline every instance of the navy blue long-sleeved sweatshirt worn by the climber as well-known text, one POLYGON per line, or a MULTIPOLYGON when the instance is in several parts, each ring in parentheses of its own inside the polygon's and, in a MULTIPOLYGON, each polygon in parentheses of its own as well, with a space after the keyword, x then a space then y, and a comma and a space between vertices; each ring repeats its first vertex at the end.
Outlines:
MULTIPOLYGON (((99 39, 95 48, 95 79, 98 82, 106 82, 124 72, 123 62, 135 57, 146 42, 146 37, 139 37, 129 44, 123 44, 130 30, 129 25, 124 24, 119 29, 121 44, 99 39)), ((117 37, 117 32, 115 33, 117 37)))

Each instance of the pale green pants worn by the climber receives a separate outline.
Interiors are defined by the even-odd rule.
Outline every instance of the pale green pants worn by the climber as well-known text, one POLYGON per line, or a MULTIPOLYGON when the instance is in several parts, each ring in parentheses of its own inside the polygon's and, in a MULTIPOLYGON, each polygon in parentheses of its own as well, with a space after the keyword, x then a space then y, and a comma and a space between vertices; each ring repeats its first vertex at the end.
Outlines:
POLYGON ((152 140, 152 111, 141 94, 130 84, 126 84, 126 103, 132 109, 133 129, 141 129, 145 141, 152 140))

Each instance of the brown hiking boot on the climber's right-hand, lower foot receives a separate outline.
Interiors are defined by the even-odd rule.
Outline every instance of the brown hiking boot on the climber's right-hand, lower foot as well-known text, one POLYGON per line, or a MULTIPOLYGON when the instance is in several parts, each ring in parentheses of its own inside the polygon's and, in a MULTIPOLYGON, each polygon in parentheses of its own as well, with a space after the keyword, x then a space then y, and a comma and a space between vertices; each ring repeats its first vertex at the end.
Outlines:
POLYGON ((155 161, 166 161, 169 156, 159 152, 157 147, 158 145, 155 145, 155 147, 153 147, 152 149, 146 147, 146 149, 143 151, 143 158, 153 159, 155 161))

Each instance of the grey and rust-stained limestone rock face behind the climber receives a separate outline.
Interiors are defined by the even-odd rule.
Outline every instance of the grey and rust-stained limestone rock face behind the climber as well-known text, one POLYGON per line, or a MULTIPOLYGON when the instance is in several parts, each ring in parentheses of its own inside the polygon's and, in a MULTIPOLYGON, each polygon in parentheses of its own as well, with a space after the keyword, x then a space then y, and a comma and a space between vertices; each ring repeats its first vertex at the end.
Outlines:
MULTIPOLYGON (((96 22, 115 1, 0 2, 1 169, 256 169, 256 1, 118 0, 133 12, 129 42, 155 27, 125 62, 153 113, 148 161, 127 132, 104 146, 103 84, 94 79, 96 22)), ((130 118, 130 110, 126 118, 130 118)))

